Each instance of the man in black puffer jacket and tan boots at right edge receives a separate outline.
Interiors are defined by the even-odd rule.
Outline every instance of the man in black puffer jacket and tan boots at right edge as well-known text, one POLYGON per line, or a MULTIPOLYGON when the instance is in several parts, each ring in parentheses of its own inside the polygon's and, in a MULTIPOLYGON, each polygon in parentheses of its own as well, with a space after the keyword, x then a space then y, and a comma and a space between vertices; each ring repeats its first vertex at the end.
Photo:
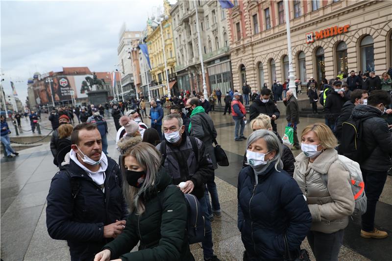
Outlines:
MULTIPOLYGON (((376 204, 387 180, 387 171, 391 168, 392 132, 388 130, 385 119, 381 118, 385 108, 391 103, 391 96, 382 90, 373 91, 368 97, 368 105, 357 105, 352 117, 363 120, 364 148, 370 152, 367 159, 361 162, 362 175, 365 182, 365 193, 368 198, 367 212, 362 215, 361 237, 384 238, 388 233, 374 228, 376 204)), ((344 133, 343 133, 344 135, 344 133)))

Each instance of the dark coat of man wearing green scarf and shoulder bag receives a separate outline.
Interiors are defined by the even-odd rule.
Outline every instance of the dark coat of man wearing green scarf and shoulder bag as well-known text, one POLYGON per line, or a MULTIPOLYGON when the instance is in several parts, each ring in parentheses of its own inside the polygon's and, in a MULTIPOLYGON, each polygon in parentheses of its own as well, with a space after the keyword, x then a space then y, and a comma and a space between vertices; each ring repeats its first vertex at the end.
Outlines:
MULTIPOLYGON (((218 168, 217 159, 215 158, 214 146, 212 145, 213 140, 216 139, 218 136, 217 130, 215 129, 214 126, 214 122, 212 121, 211 117, 201 112, 192 116, 191 123, 192 123, 192 129, 190 135, 196 137, 201 142, 203 142, 207 150, 207 153, 210 155, 214 169, 217 169, 218 168), (212 133, 210 133, 210 129, 212 133)), ((185 129, 186 128, 187 127, 185 126, 185 129)))

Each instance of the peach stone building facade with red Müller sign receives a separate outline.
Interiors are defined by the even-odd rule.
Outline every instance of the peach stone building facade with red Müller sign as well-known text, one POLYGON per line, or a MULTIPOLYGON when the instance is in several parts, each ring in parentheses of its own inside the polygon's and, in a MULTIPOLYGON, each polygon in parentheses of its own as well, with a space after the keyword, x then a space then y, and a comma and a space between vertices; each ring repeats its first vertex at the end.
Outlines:
MULTIPOLYGON (((234 1, 227 17, 234 86, 252 90, 288 78, 287 35, 282 0, 234 1)), ((390 1, 289 1, 295 78, 318 83, 339 71, 375 71, 392 66, 390 1)))

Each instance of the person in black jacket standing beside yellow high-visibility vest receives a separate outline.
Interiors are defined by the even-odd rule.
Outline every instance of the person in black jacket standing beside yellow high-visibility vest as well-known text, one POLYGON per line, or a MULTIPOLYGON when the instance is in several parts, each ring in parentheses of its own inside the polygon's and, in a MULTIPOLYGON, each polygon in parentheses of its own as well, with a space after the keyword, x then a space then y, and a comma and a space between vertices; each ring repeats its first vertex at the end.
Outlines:
POLYGON ((335 122, 338 119, 343 104, 349 99, 344 95, 344 88, 342 88, 341 81, 334 81, 332 84, 334 92, 330 92, 325 101, 324 112, 325 112, 325 122, 328 122, 328 126, 331 130, 335 128, 335 122))

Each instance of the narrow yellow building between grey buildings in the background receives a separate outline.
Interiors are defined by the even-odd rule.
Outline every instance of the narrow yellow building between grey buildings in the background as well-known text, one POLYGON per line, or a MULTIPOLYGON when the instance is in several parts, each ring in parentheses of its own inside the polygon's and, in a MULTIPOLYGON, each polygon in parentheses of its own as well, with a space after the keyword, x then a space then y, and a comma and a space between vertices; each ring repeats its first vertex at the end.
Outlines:
POLYGON ((174 53, 174 41, 172 37, 172 17, 170 16, 171 4, 168 0, 164 0, 164 11, 163 18, 155 17, 155 20, 151 18, 147 21, 147 48, 148 56, 151 63, 151 77, 152 81, 150 84, 150 91, 152 98, 161 97, 168 94, 166 73, 165 73, 165 59, 163 55, 161 28, 163 29, 163 38, 166 52, 166 66, 169 76, 169 88, 171 94, 174 95, 176 78, 174 73, 175 67, 175 53, 174 53), (165 17, 168 18, 165 20, 165 17), (157 20, 160 21, 157 21, 157 20), (158 23, 157 23, 158 22, 158 23), (162 25, 160 25, 161 23, 162 25))

